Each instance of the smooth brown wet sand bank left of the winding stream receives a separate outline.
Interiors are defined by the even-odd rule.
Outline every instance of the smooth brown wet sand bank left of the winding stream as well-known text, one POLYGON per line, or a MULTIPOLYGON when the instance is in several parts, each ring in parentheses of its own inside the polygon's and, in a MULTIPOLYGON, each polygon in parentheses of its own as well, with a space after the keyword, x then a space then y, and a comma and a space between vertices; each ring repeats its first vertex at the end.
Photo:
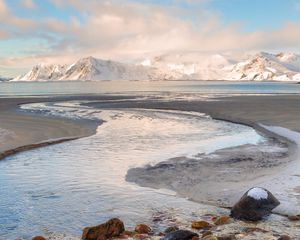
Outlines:
POLYGON ((0 128, 7 132, 0 144, 0 160, 18 152, 90 136, 98 124, 19 111, 25 102, 44 99, 0 99, 0 128))

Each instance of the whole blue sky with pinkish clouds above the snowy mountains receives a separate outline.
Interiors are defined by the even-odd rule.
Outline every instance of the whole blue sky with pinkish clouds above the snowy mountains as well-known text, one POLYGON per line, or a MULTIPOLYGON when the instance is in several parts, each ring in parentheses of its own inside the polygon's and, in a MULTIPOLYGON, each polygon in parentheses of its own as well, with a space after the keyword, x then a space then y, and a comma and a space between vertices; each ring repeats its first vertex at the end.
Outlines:
POLYGON ((0 0, 0 76, 81 57, 300 53, 300 0, 0 0))

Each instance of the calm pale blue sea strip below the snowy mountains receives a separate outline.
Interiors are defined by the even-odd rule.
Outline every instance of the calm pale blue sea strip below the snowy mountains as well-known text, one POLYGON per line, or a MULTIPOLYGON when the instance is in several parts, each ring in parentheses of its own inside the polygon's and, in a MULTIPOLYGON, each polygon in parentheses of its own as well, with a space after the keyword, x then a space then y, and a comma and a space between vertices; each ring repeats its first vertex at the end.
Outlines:
POLYGON ((4 82, 0 95, 103 94, 177 92, 202 94, 300 93, 300 85, 278 82, 224 81, 99 81, 99 82, 4 82))

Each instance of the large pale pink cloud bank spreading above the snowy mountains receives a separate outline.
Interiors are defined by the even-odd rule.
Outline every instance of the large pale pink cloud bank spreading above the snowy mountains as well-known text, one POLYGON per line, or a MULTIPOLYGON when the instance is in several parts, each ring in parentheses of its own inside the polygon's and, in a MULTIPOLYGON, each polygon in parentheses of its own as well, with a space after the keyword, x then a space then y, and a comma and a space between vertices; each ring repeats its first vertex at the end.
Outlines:
POLYGON ((35 52, 2 59, 2 64, 29 68, 41 61, 70 63, 88 55, 124 60, 173 51, 300 49, 299 23, 245 32, 239 23, 225 25, 219 13, 207 10, 203 4, 210 0, 173 0, 176 4, 172 6, 134 0, 49 1, 61 13, 71 11, 68 20, 46 16, 35 24, 13 15, 0 0, 1 23, 14 29, 7 32, 5 28, 0 39, 30 35, 48 44, 34 45, 35 52), (192 7, 182 8, 183 2, 192 7))

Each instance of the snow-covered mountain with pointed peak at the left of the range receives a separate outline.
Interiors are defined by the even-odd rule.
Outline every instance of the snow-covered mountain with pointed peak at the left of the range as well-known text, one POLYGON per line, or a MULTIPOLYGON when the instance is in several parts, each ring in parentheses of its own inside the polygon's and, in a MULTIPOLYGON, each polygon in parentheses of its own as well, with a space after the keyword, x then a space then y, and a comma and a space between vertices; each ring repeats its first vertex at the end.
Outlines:
POLYGON ((164 80, 173 78, 172 72, 163 72, 153 67, 87 57, 70 66, 39 64, 27 74, 19 76, 13 81, 164 80))

